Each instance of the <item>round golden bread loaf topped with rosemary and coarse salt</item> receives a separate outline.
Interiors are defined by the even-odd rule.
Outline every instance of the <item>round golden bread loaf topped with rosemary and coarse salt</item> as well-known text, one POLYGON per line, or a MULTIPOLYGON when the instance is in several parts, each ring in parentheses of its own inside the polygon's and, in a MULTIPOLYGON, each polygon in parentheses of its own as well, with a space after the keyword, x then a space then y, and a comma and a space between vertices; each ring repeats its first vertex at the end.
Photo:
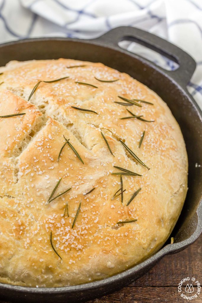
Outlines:
POLYGON ((101 63, 0 72, 0 281, 76 285, 154 254, 187 192, 183 136, 162 99, 101 63))

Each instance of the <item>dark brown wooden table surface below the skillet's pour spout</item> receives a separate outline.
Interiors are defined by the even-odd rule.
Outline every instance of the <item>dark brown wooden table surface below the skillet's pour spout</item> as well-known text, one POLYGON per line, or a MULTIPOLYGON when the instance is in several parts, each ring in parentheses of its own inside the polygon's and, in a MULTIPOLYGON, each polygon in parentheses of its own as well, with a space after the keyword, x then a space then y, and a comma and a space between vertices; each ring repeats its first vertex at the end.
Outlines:
POLYGON ((197 299, 180 297, 177 286, 187 276, 194 276, 202 285, 202 235, 184 251, 164 257, 131 285, 88 303, 202 303, 202 288, 197 299))

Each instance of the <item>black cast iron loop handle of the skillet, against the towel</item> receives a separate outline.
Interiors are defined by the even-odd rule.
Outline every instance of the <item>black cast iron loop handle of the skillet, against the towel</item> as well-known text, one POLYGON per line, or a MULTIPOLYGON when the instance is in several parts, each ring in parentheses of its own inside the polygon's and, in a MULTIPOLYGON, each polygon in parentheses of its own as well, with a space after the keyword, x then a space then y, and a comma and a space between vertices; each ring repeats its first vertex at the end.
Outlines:
MULTIPOLYGON (((157 68, 163 70, 164 73, 170 75, 172 78, 174 78, 175 81, 178 83, 180 82, 180 84, 184 87, 186 87, 196 68, 196 62, 194 59, 182 49, 160 37, 157 37, 156 35, 145 32, 139 28, 129 26, 117 27, 95 40, 102 42, 104 45, 107 44, 113 46, 118 46, 118 42, 121 42, 123 40, 137 42, 161 55, 164 55, 168 59, 176 62, 179 65, 179 68, 177 68, 175 71, 166 71, 159 66, 157 68)), ((131 52, 127 50, 124 50, 124 52, 130 53, 131 55, 131 52)), ((151 62, 145 58, 142 59, 149 65, 155 65, 154 62, 151 62)))

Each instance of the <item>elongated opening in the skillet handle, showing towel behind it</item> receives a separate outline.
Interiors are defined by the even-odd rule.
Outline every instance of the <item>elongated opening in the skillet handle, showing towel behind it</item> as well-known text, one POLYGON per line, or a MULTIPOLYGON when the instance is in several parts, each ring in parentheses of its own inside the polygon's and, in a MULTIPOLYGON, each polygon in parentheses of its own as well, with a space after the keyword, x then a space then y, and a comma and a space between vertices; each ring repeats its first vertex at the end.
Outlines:
POLYGON ((147 42, 134 37, 123 37, 118 42, 119 47, 127 49, 127 51, 150 60, 156 65, 164 68, 167 71, 175 71, 179 68, 179 62, 173 55, 150 45, 147 42))

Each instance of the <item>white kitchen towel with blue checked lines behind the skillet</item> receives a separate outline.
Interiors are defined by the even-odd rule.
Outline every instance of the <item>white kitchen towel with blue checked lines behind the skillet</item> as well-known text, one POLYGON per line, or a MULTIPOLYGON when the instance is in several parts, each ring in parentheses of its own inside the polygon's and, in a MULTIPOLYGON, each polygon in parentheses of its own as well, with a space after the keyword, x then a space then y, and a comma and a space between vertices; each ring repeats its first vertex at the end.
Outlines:
MULTIPOLYGON (((202 0, 0 0, 0 43, 44 36, 95 38, 122 25, 167 39, 195 59, 187 88, 202 108, 202 0)), ((133 42, 122 45, 151 57, 133 42)), ((162 57, 153 60, 175 68, 162 57)))

